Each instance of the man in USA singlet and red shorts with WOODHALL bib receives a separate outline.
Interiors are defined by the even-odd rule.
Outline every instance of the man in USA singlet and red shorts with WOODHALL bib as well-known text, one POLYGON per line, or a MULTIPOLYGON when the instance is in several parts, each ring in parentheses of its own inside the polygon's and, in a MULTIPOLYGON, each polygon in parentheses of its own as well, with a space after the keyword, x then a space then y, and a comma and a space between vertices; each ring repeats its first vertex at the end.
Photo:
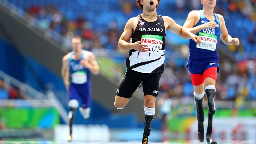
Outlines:
POLYGON ((227 31, 222 15, 213 13, 216 0, 201 0, 203 10, 191 11, 184 23, 193 34, 201 37, 202 43, 196 44, 190 40, 187 68, 191 73, 192 84, 194 87, 194 100, 198 120, 198 138, 204 141, 204 94, 208 99, 209 124, 207 130, 207 142, 211 143, 212 115, 215 113, 215 83, 217 72, 219 72, 219 55, 217 45, 219 39, 227 45, 239 45, 238 38, 232 38, 227 31))

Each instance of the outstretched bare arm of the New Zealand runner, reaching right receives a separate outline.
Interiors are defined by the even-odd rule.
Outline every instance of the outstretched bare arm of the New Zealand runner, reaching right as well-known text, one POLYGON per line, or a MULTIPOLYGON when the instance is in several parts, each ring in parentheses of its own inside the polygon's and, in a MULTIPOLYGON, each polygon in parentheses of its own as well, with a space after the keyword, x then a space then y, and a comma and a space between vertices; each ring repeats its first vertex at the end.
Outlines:
POLYGON ((192 34, 187 28, 178 25, 172 18, 168 16, 164 16, 163 18, 167 23, 167 29, 172 33, 177 34, 184 39, 193 39, 197 44, 201 43, 199 36, 192 34))

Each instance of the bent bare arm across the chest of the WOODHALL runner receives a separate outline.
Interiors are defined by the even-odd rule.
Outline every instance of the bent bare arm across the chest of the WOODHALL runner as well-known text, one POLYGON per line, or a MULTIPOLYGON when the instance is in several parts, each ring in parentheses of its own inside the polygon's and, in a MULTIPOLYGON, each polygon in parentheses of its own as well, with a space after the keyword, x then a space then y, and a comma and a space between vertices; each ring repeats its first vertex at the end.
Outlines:
POLYGON ((217 25, 215 21, 210 21, 194 27, 199 20, 200 20, 200 12, 191 11, 189 12, 187 20, 185 21, 183 27, 187 28, 191 33, 196 34, 205 28, 215 28, 217 25))

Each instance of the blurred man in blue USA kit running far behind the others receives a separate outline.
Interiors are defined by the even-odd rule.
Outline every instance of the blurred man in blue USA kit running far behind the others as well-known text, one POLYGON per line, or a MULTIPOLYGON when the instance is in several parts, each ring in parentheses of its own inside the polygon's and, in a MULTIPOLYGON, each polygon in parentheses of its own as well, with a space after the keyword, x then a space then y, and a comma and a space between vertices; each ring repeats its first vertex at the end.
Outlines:
POLYGON ((99 74, 99 66, 92 52, 83 50, 82 38, 74 36, 71 40, 72 52, 69 52, 62 59, 61 74, 63 82, 69 95, 69 127, 70 136, 68 141, 72 141, 72 124, 74 121, 78 100, 82 105, 79 108, 84 119, 90 117, 91 83, 90 72, 99 74), (71 78, 71 82, 69 79, 71 78))

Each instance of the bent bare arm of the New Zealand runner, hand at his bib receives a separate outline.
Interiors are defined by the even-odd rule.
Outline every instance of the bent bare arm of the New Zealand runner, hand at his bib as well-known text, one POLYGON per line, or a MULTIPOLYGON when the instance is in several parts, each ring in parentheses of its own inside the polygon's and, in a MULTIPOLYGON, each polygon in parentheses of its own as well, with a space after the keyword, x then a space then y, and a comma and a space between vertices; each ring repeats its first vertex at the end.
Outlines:
POLYGON ((147 45, 141 44, 142 41, 138 41, 135 43, 129 43, 128 41, 130 40, 132 33, 133 33, 133 26, 134 22, 136 22, 136 18, 131 18, 127 21, 124 32, 122 33, 119 41, 118 41, 118 47, 121 50, 131 50, 135 49, 140 52, 146 52, 148 51, 148 48, 145 48, 147 45))

